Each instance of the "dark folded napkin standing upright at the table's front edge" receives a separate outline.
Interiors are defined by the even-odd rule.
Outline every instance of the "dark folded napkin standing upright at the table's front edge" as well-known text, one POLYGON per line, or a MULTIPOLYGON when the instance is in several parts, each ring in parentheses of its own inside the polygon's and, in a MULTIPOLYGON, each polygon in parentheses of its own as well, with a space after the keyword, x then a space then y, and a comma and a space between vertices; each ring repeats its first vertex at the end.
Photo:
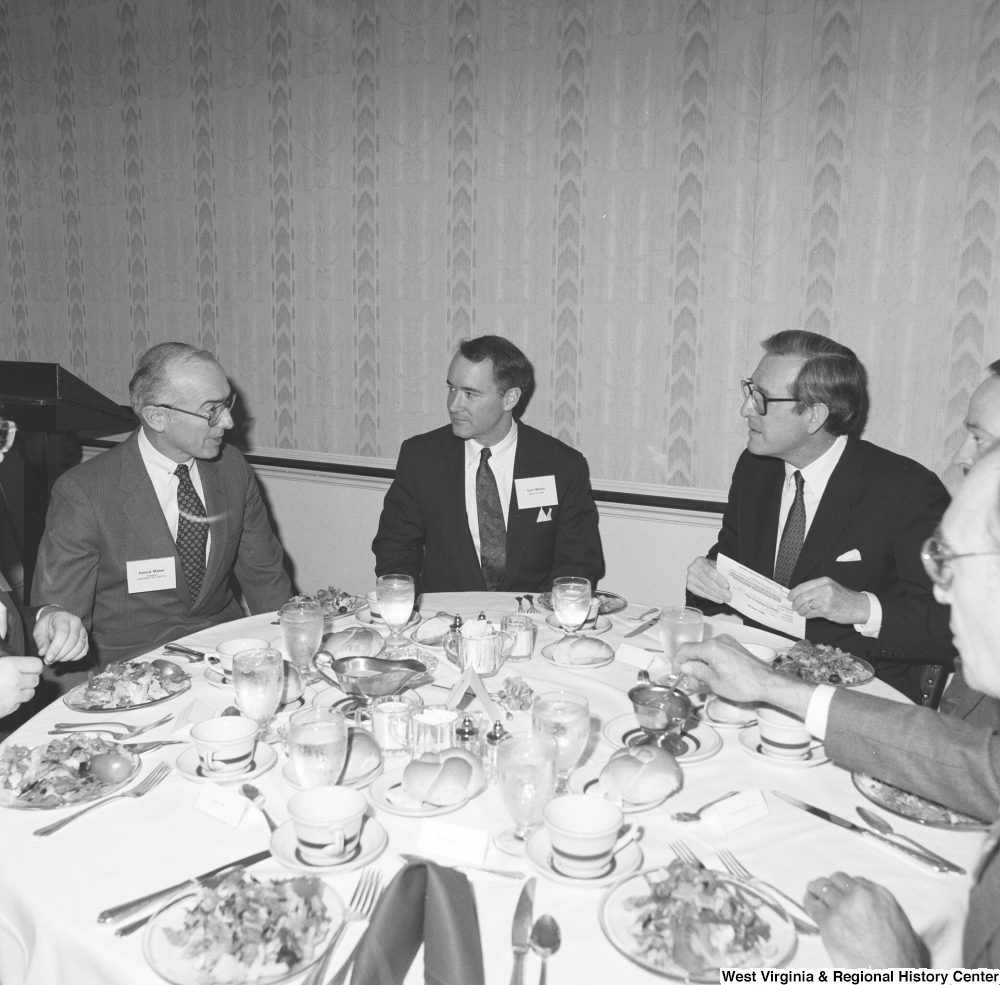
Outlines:
POLYGON ((421 943, 427 985, 483 985, 472 886, 425 860, 407 864, 382 894, 358 944, 352 985, 402 985, 421 943))

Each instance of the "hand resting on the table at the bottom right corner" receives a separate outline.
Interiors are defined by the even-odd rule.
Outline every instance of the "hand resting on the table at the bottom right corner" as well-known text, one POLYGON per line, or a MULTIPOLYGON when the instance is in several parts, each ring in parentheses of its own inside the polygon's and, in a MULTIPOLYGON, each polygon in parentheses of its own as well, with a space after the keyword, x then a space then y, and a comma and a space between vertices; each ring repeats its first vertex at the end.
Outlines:
POLYGON ((834 872, 806 886, 803 905, 839 968, 930 966, 926 946, 885 886, 834 872))

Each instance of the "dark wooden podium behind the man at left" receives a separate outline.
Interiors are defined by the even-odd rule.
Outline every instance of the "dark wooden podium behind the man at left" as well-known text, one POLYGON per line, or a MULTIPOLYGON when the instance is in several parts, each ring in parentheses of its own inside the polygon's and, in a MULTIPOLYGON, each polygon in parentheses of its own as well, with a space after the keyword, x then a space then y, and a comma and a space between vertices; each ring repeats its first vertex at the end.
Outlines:
POLYGON ((109 400, 58 363, 0 360, 0 417, 24 440, 24 601, 29 602, 38 545, 52 485, 63 467, 67 438, 97 437, 138 425, 131 407, 109 400))

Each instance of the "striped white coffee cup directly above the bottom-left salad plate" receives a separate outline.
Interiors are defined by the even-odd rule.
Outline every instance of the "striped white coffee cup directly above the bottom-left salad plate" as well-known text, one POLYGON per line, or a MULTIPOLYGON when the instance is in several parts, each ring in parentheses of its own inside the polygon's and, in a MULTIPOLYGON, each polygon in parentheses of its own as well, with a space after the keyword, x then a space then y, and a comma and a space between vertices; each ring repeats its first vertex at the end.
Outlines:
POLYGON ((365 796, 351 787, 311 787, 288 801, 298 853, 310 865, 330 865, 357 850, 365 796))

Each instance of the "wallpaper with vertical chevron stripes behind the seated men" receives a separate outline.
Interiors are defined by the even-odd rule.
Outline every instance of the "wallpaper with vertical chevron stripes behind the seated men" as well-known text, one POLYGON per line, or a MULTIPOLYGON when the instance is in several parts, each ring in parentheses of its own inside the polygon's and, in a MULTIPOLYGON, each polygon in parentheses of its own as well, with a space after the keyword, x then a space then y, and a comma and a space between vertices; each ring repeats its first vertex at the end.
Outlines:
POLYGON ((0 0, 0 358, 216 352, 250 440, 393 462, 458 339, 596 482, 724 490, 758 341, 943 472, 1000 356, 1000 0, 0 0))

